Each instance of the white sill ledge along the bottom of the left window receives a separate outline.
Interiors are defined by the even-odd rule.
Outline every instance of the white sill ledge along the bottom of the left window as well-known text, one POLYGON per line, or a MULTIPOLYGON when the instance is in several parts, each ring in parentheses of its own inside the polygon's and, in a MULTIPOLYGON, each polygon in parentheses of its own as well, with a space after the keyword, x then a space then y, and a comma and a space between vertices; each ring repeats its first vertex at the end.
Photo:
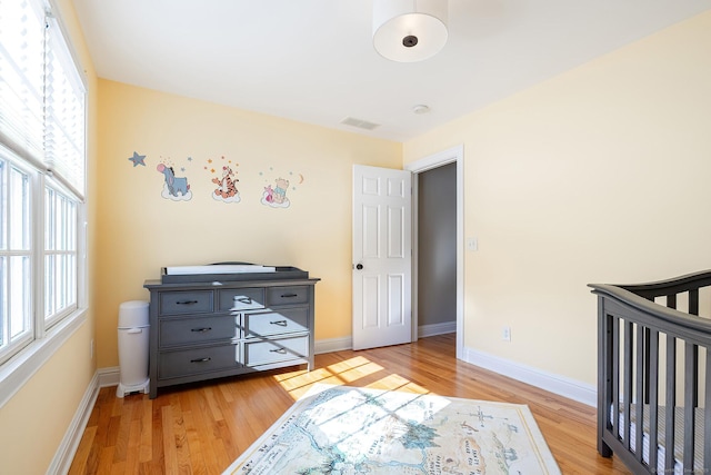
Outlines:
POLYGON ((44 338, 32 342, 0 367, 0 408, 52 357, 83 323, 87 309, 80 309, 58 323, 44 338))

